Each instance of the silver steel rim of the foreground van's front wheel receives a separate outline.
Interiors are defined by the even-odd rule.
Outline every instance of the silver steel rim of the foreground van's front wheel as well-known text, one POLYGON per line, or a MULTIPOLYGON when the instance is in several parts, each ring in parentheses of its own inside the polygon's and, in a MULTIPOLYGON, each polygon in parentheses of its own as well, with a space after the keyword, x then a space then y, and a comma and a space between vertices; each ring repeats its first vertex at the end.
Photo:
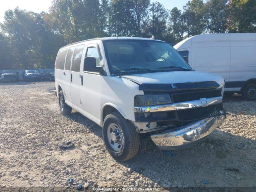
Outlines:
POLYGON ((124 144, 122 132, 117 124, 110 123, 107 128, 108 144, 115 151, 119 152, 124 144))

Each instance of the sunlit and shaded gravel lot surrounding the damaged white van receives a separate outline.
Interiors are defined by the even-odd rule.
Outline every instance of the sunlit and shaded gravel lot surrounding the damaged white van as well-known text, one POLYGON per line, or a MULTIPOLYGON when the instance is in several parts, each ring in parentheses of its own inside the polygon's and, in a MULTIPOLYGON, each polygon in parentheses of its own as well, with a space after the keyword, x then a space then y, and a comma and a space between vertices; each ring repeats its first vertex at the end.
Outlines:
POLYGON ((60 114, 53 89, 53 82, 0 84, 0 187, 256 186, 256 102, 225 98, 226 121, 193 148, 160 151, 143 140, 134 159, 119 163, 102 128, 74 110, 60 114), (67 141, 74 147, 60 150, 67 141))

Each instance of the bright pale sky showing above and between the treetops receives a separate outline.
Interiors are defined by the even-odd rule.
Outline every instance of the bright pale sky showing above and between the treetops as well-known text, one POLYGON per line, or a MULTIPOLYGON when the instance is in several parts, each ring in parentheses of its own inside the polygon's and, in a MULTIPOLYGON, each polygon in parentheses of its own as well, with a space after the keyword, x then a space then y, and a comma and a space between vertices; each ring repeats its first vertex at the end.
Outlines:
MULTIPOLYGON (((158 1, 164 5, 165 8, 171 10, 174 7, 178 7, 182 10, 182 7, 188 2, 188 0, 151 0, 158 1)), ((19 6, 20 9, 26 9, 33 12, 48 12, 48 8, 52 0, 1 0, 0 4, 0 22, 4 20, 4 12, 8 9, 14 9, 19 6)))

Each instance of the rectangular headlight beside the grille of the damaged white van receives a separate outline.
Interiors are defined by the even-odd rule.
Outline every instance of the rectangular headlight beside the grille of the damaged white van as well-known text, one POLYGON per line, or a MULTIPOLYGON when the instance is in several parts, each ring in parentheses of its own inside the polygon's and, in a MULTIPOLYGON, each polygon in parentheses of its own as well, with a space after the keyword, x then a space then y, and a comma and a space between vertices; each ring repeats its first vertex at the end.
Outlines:
POLYGON ((134 97, 134 106, 162 105, 171 102, 172 100, 168 94, 136 95, 134 97))

